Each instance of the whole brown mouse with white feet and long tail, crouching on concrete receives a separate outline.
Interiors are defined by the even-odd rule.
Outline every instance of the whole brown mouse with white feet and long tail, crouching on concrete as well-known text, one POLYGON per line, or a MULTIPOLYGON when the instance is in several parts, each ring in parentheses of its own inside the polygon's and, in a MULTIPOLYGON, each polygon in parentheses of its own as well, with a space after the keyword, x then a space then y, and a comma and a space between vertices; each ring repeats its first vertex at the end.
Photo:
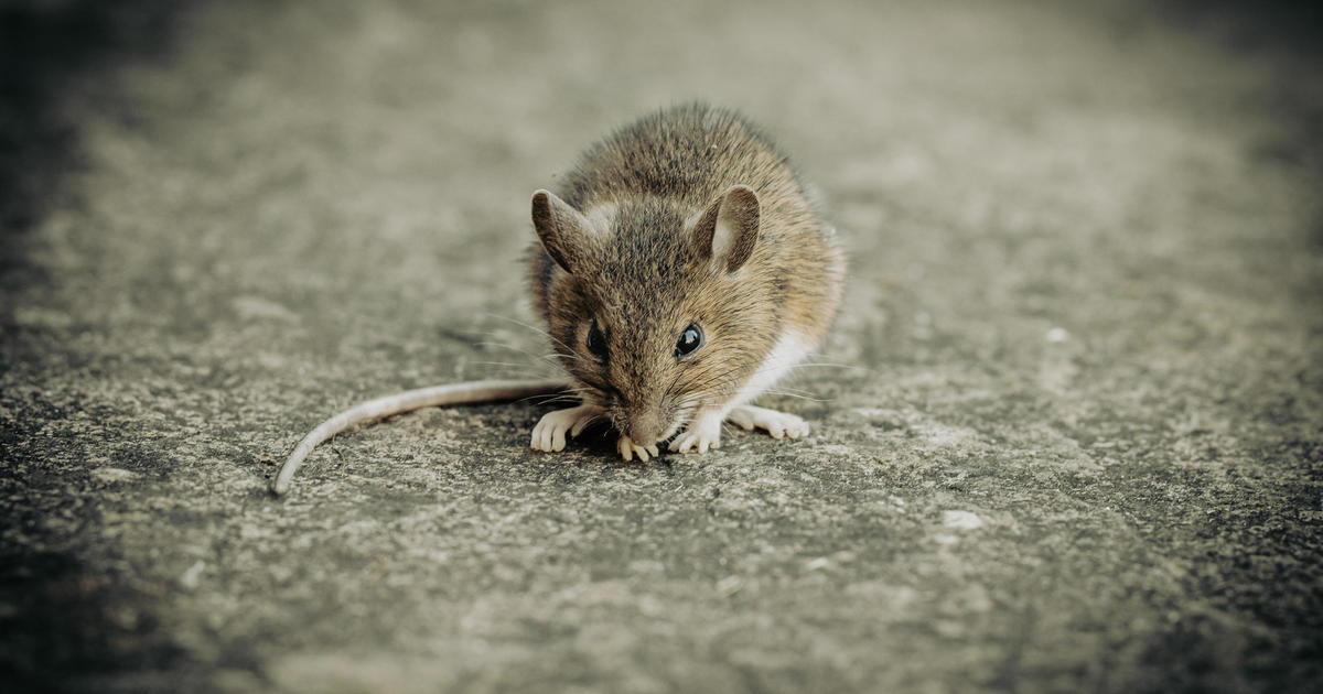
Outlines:
POLYGON ((789 157, 730 108, 691 102, 590 145, 532 198, 534 313, 565 381, 478 381, 410 390, 340 412, 286 459, 288 490, 312 449, 360 423, 433 406, 536 397, 529 447, 556 452, 609 423, 626 461, 705 453, 722 424, 775 439, 804 419, 751 402, 816 349, 835 319, 845 255, 789 157))

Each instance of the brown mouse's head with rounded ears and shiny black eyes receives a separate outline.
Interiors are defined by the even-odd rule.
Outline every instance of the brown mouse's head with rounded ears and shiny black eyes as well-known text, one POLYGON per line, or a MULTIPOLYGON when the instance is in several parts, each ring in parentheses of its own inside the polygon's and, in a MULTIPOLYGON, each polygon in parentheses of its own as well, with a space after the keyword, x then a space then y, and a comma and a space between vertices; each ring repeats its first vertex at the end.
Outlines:
POLYGON ((775 278, 759 268, 758 196, 697 213, 659 198, 576 210, 533 194, 553 346, 585 402, 648 445, 728 401, 770 352, 775 278))

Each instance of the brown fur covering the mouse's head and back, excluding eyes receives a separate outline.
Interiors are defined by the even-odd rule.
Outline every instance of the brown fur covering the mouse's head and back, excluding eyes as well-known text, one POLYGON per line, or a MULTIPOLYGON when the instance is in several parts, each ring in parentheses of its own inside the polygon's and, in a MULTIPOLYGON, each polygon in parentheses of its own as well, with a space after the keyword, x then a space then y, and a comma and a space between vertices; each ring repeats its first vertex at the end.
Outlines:
POLYGON ((572 209, 534 200, 534 307, 585 399, 636 440, 729 401, 787 329, 816 344, 840 303, 833 231, 786 157, 732 111, 688 104, 626 126, 582 155, 560 197, 572 209), (729 264, 714 267, 710 226, 733 185, 757 193, 751 212, 751 196, 725 208, 757 234, 737 235, 729 264), (573 258, 573 272, 544 246, 573 258), (594 320, 605 364, 585 346, 594 320), (677 360, 691 323, 705 344, 677 360))

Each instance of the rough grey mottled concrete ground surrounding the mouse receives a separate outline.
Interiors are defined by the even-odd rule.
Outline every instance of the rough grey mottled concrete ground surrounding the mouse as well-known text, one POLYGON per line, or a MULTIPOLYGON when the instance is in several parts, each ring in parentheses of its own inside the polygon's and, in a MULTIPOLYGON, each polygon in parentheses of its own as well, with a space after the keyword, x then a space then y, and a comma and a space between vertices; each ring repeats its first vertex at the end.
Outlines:
MULTIPOLYGON (((0 4, 7 691, 1318 691, 1316 11, 0 4), (528 200, 703 98, 849 246, 815 427, 544 406, 528 200)), ((820 366, 819 366, 820 365, 820 366)))

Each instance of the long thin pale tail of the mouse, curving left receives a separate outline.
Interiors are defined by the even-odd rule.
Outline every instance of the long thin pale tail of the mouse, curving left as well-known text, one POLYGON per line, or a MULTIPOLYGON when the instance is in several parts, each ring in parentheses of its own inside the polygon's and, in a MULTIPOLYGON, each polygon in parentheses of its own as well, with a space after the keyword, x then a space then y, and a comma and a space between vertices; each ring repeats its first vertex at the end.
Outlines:
POLYGON ((442 405, 476 405, 483 402, 517 401, 521 398, 536 398, 538 395, 557 395, 569 390, 564 381, 472 381, 467 383, 450 383, 446 386, 431 386, 418 390, 406 390, 394 395, 386 395, 363 405, 351 407, 331 419, 318 424, 318 428, 294 447, 294 452, 280 465, 280 473, 271 482, 271 493, 280 496, 290 490, 290 480, 303 464, 303 459, 312 453, 321 442, 340 434, 341 431, 364 422, 373 422, 384 416, 409 412, 422 407, 437 407, 442 405))

